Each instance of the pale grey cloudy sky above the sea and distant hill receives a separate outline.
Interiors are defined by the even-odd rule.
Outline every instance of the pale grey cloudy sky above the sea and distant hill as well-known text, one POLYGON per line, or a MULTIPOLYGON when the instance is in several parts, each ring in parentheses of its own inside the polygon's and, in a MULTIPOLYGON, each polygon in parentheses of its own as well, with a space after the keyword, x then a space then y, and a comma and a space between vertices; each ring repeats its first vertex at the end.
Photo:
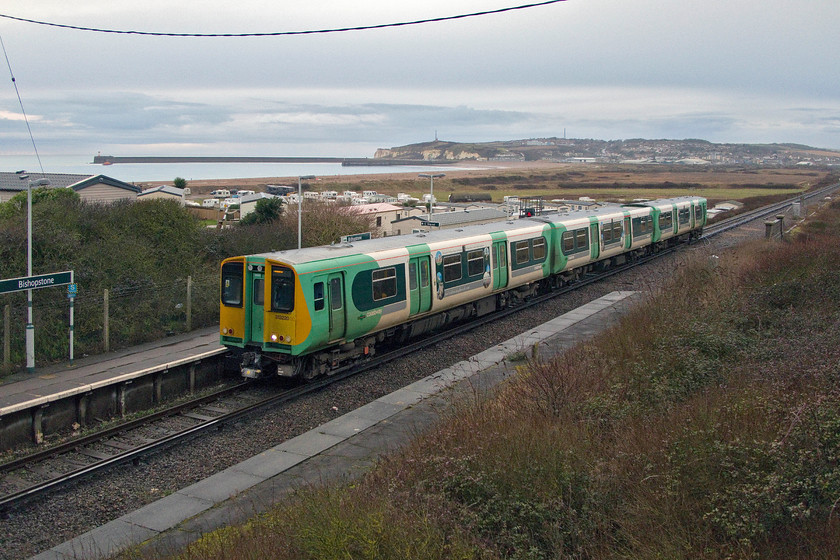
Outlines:
MULTIPOLYGON (((526 3, 4 0, 0 14, 242 34, 526 3)), ((2 17, 0 37, 45 157, 365 157, 436 133, 463 142, 565 133, 840 149, 838 24, 837 0, 567 0, 272 37, 108 34, 2 17)), ((0 155, 31 153, 8 66, 0 74, 0 155)))

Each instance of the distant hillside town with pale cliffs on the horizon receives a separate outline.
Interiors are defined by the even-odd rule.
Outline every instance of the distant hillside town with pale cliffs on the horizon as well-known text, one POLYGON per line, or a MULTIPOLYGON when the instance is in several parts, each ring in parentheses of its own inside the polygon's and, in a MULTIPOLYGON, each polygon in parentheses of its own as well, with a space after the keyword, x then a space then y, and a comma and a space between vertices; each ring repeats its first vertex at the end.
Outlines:
POLYGON ((380 148, 374 159, 824 167, 840 165, 840 151, 797 144, 716 144, 698 139, 532 138, 481 143, 435 140, 380 148))

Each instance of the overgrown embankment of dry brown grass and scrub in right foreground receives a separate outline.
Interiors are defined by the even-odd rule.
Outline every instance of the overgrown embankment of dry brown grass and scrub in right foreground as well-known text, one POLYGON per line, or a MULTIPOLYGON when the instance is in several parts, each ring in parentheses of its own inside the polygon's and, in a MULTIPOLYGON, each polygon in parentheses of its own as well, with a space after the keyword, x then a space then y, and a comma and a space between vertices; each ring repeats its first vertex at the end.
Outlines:
POLYGON ((182 558, 835 558, 840 208, 815 223, 182 558))

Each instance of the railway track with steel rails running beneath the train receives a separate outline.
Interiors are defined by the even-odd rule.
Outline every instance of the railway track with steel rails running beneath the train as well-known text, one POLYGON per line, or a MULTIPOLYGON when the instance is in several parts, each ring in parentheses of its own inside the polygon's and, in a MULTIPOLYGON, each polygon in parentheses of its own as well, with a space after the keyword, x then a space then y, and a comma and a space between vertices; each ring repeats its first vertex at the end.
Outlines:
MULTIPOLYGON (((838 185, 833 185, 809 193, 805 197, 808 200, 822 199, 837 188, 838 185)), ((789 199, 707 226, 701 239, 708 239, 743 224, 776 214, 798 200, 799 198, 789 199)), ((278 388, 276 384, 236 383, 201 398, 7 462, 0 465, 0 515, 26 500, 59 489, 83 477, 89 477, 117 464, 137 461, 145 455, 198 437, 202 432, 221 429, 226 423, 319 391, 351 375, 379 367, 406 354, 439 344, 455 335, 540 305, 548 299, 620 274, 630 268, 670 254, 679 248, 680 246, 666 248, 598 274, 586 275, 572 284, 537 295, 521 304, 402 345, 393 351, 373 356, 364 363, 334 370, 331 375, 316 378, 306 384, 278 388), (266 392, 269 394, 264 394, 266 392)))

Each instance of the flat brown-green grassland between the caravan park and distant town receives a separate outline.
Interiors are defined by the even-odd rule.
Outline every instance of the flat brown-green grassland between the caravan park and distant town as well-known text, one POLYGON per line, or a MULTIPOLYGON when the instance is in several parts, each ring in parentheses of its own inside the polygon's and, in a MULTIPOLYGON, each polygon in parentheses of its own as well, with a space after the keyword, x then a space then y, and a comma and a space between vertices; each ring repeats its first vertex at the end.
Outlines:
MULTIPOLYGON (((494 202, 501 202, 505 194, 548 199, 589 196, 604 200, 662 198, 690 193, 711 200, 742 200, 807 190, 827 175, 814 169, 581 165, 546 161, 464 162, 458 168, 444 172, 446 177, 435 181, 438 198, 450 193, 481 192, 491 194, 494 202)), ((418 178, 416 172, 323 176, 310 183, 314 190, 376 190, 390 195, 406 192, 415 196, 428 192, 429 186, 428 181, 418 178)), ((200 198, 220 187, 260 189, 267 184, 296 185, 297 177, 194 180, 189 186, 193 198, 200 198)))

